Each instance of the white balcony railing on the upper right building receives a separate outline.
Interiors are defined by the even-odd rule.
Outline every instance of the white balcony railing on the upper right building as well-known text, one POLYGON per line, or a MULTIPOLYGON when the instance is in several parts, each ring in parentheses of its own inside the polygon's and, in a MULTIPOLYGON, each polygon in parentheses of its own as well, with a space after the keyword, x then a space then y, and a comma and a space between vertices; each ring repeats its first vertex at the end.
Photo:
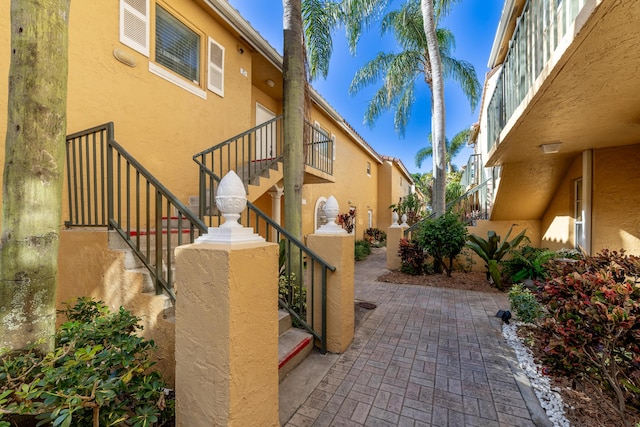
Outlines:
POLYGON ((585 0, 529 0, 518 19, 488 107, 487 151, 567 35, 585 0))

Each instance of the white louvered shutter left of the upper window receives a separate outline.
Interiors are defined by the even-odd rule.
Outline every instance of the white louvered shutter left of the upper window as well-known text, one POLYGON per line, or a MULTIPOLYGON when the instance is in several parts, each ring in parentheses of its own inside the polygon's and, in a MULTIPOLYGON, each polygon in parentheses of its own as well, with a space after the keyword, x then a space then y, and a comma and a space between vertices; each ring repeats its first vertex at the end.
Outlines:
POLYGON ((149 56, 149 0, 120 0, 120 42, 149 56))

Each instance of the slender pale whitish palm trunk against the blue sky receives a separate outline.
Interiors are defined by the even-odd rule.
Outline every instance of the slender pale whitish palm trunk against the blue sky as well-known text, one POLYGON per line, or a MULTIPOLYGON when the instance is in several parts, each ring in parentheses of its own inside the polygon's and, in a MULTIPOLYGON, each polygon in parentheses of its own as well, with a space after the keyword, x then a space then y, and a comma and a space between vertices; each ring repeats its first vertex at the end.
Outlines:
POLYGON ((445 108, 444 108, 444 78, 442 76, 442 61, 436 37, 433 0, 421 0, 424 32, 427 38, 427 52, 431 64, 431 135, 433 137, 433 211, 436 216, 444 214, 446 192, 446 147, 445 147, 445 108))

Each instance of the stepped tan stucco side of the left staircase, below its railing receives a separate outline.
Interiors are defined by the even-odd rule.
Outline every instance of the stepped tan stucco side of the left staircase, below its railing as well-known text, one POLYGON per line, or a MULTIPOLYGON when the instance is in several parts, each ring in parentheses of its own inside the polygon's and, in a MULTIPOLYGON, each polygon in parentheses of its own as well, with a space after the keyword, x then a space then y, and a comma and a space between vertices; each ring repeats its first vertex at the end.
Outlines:
POLYGON ((123 306, 140 317, 142 335, 158 346, 156 367, 173 384, 175 331, 173 320, 164 318, 166 300, 142 292, 145 277, 125 269, 126 253, 108 248, 109 233, 113 232, 73 229, 61 233, 57 306, 61 309, 63 302, 87 296, 104 301, 112 311, 123 306))

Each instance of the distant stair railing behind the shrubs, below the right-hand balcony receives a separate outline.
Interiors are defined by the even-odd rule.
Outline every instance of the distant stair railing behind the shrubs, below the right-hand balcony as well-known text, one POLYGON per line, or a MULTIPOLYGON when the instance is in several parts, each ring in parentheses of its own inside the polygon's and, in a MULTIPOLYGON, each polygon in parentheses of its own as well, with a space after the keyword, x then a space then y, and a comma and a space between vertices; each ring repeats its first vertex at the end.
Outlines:
MULTIPOLYGON (((489 213, 491 212, 491 200, 488 191, 489 181, 491 181, 491 179, 484 181, 480 185, 472 187, 453 202, 447 203, 446 210, 453 211, 458 215, 460 221, 468 226, 475 225, 475 222, 480 219, 489 219, 489 213)), ((411 227, 405 229, 405 238, 409 238, 411 233, 421 227, 425 221, 434 218, 435 213, 432 213, 428 217, 421 219, 411 227)))

